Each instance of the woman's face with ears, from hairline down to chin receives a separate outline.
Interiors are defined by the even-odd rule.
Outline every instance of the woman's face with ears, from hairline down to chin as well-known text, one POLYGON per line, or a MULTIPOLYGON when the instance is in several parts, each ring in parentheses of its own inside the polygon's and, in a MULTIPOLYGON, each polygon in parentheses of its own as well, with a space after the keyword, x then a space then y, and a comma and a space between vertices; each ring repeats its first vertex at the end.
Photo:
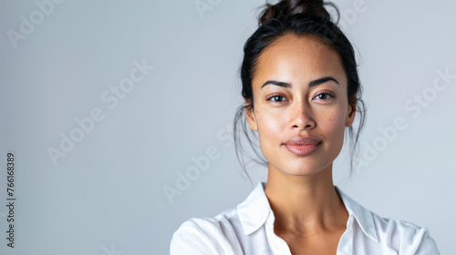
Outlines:
POLYGON ((245 113, 269 169, 310 175, 332 168, 356 113, 337 52, 316 36, 282 36, 259 56, 252 86, 254 109, 245 113), (287 143, 295 137, 311 139, 287 143))

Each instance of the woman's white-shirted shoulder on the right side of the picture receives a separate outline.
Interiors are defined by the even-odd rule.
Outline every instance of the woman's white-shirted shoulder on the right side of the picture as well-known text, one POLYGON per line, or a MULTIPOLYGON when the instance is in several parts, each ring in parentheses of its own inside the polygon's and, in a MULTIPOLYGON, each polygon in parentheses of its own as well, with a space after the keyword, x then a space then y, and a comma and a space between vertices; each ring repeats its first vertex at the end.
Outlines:
POLYGON ((401 219, 380 217, 373 213, 378 240, 398 250, 399 254, 440 254, 427 228, 401 219))

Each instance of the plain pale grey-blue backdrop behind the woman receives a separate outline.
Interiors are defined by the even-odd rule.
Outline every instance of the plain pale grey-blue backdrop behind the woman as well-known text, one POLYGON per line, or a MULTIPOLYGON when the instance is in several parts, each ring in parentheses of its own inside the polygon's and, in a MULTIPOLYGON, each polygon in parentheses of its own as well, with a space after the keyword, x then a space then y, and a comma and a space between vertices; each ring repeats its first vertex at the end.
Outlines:
MULTIPOLYGON (((0 253, 168 254, 183 221, 242 202, 267 173, 251 164, 244 178, 232 132, 243 46, 264 3, 1 1, 0 253)), ((348 177, 342 152, 335 184, 380 216, 427 227, 451 254, 456 2, 335 3, 368 105, 365 164, 348 177), (392 131, 397 121, 407 128, 392 131)))

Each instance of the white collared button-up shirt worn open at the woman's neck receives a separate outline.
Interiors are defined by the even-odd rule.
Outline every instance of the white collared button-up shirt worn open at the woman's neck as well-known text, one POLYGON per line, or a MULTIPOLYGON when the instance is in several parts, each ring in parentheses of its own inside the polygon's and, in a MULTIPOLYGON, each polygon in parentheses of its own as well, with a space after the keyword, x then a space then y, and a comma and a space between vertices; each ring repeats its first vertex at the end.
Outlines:
MULTIPOLYGON (((171 239, 170 254, 291 254, 274 232, 274 212, 259 182, 236 208, 214 218, 192 218, 171 239)), ((349 217, 337 255, 439 255, 426 228, 399 219, 381 218, 336 187, 349 217)))

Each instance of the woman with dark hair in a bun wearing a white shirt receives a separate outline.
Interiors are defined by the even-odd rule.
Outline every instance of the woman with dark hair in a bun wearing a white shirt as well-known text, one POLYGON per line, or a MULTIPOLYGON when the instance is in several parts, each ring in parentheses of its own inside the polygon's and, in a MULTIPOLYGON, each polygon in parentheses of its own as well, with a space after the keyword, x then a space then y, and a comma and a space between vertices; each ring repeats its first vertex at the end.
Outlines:
POLYGON ((353 47, 323 1, 266 6, 244 46, 238 114, 258 132, 267 183, 236 208, 182 223, 171 254, 440 254, 426 228, 381 218, 333 185, 364 104, 353 47))

